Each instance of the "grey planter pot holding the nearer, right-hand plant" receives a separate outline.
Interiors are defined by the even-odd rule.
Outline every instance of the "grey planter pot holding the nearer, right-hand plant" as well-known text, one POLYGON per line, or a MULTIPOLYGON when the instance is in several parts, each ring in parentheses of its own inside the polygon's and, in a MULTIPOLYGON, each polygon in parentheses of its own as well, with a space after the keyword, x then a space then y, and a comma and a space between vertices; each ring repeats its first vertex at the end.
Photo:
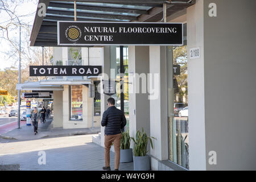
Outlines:
POLYGON ((150 156, 133 156, 134 171, 150 171, 150 156))

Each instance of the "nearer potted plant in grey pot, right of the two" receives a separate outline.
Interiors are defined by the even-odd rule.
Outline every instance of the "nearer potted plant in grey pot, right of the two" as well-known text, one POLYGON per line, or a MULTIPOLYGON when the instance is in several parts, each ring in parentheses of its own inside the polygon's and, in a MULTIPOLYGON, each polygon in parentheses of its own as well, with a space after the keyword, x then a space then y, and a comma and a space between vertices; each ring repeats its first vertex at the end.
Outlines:
POLYGON ((150 170, 150 156, 147 155, 147 142, 150 140, 151 147, 153 148, 152 139, 154 137, 148 137, 147 133, 142 128, 141 131, 137 131, 135 138, 131 137, 134 142, 133 146, 133 166, 134 171, 149 171, 150 170))

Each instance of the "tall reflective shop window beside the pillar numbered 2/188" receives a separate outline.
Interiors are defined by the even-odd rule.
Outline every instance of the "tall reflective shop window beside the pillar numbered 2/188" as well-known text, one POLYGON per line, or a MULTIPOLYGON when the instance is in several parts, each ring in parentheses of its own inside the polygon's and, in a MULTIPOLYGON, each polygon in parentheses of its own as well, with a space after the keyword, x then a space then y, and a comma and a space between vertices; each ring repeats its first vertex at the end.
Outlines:
POLYGON ((173 64, 180 65, 180 75, 172 77, 174 95, 168 100, 174 106, 168 110, 168 154, 169 160, 189 169, 187 46, 172 47, 171 55, 173 64))

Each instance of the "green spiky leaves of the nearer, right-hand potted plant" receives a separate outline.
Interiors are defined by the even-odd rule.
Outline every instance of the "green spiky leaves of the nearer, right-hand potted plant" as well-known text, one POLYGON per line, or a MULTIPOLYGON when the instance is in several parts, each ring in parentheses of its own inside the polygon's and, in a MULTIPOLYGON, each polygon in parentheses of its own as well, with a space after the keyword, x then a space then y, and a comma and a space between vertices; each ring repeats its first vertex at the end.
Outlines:
POLYGON ((154 137, 147 137, 147 133, 144 132, 143 128, 142 128, 142 132, 139 130, 137 131, 135 138, 131 137, 131 139, 133 139, 133 142, 134 142, 134 146, 133 146, 134 156, 147 155, 148 140, 150 140, 151 147, 153 148, 153 142, 151 138, 155 139, 154 137))

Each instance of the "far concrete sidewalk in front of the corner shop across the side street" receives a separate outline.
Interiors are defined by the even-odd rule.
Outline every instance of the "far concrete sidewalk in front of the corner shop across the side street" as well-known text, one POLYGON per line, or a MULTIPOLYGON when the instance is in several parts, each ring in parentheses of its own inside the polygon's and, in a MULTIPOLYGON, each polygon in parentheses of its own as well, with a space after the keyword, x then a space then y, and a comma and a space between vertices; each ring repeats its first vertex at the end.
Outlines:
POLYGON ((47 137, 65 137, 72 135, 82 134, 97 134, 100 132, 98 128, 86 129, 63 129, 62 127, 53 128, 52 118, 46 119, 46 123, 38 123, 38 134, 34 135, 33 126, 22 126, 20 129, 14 129, 7 133, 1 134, 0 138, 3 139, 16 139, 16 140, 33 140, 47 137))

